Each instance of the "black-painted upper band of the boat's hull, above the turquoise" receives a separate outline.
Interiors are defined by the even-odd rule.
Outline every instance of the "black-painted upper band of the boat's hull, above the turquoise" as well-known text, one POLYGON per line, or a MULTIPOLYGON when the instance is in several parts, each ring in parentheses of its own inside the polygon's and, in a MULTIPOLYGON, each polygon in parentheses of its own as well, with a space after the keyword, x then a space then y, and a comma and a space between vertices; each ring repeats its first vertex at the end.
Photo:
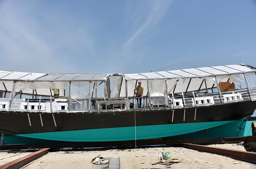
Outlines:
MULTIPOLYGON (((256 101, 242 101, 208 107, 175 109, 172 122, 172 109, 136 110, 136 126, 195 123, 211 121, 232 121, 253 114, 256 101)), ((0 132, 9 134, 29 134, 83 129, 103 129, 134 126, 134 110, 98 113, 41 113, 39 112, 0 112, 0 132), (28 120, 28 113, 31 126, 28 120)))

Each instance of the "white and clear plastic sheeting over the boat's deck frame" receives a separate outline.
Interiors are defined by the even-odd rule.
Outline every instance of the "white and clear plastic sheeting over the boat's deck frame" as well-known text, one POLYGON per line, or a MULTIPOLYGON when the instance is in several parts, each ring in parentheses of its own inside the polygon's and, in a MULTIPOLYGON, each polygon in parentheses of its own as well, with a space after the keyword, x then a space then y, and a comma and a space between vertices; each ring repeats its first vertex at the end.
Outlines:
MULTIPOLYGON (((144 96, 147 95, 148 87, 147 87, 147 79, 165 79, 165 78, 175 78, 175 79, 167 79, 168 84, 168 92, 172 93, 175 87, 175 93, 185 92, 188 87, 189 91, 196 91, 199 89, 201 85, 201 90, 205 89, 205 83, 203 80, 206 80, 207 88, 211 88, 212 85, 216 87, 215 78, 212 77, 204 77, 211 75, 223 75, 224 79, 219 79, 218 81, 229 81, 236 84, 236 87, 242 86, 244 88, 245 80, 242 73, 246 73, 248 71, 252 71, 248 67, 242 65, 226 65, 226 66, 213 66, 213 67, 202 67, 202 68, 193 68, 193 69, 183 69, 183 70, 172 70, 172 71, 158 71, 151 73, 134 73, 134 74, 119 74, 120 76, 116 76, 116 81, 110 83, 111 94, 110 97, 125 97, 125 79, 128 80, 128 97, 133 97, 133 91, 136 85, 138 85, 138 81, 142 82, 142 86, 144 87, 144 96), (237 73, 234 75, 226 75, 228 73, 237 73), (121 78, 123 77, 123 81, 121 82, 121 78), (188 77, 188 78, 183 78, 188 77), (193 77, 190 78, 189 77, 193 77), (196 78, 195 78, 196 77, 196 78), (197 78, 198 77, 198 78, 197 78), (180 80, 179 80, 180 79, 180 80), (178 82, 176 82, 179 80, 178 82), (188 83, 190 84, 188 86, 188 83), (203 82, 203 83, 202 83, 203 82), (119 93, 120 92, 120 93, 119 93)), ((253 73, 252 73, 253 74, 253 73)), ((61 80, 72 81, 72 80, 88 80, 95 79, 95 82, 99 84, 100 81, 106 81, 107 76, 109 74, 61 74, 61 73, 28 73, 28 72, 12 72, 12 71, 0 71, 0 80, 1 79, 20 79, 20 80, 28 80, 26 81, 17 81, 15 85, 15 91, 22 90, 28 92, 27 94, 32 94, 33 90, 36 90, 38 95, 51 95, 51 90, 54 88, 60 89, 61 96, 68 96, 68 83, 69 82, 60 82, 61 80), (42 81, 34 81, 29 82, 29 80, 52 80, 47 82, 42 81), (55 82, 57 80, 57 82, 55 82)), ((114 76, 110 76, 111 78, 114 76)), ((220 77, 221 78, 221 77, 220 77)), ((248 77, 250 79, 250 77, 248 77)), ((12 81, 1 81, 0 90, 5 91, 3 86, 3 82, 5 83, 6 89, 8 92, 12 90, 12 81)), ((94 82, 92 82, 92 88, 94 86, 94 82)), ((250 87, 251 88, 251 87, 250 87)), ((104 93, 104 82, 98 87, 98 95, 97 97, 103 96, 104 93), (99 95, 99 93, 101 93, 99 95)), ((35 91, 34 91, 35 92, 35 91)), ((93 92, 93 97, 95 96, 95 92, 93 92)), ((52 94, 53 95, 53 94, 52 94)))

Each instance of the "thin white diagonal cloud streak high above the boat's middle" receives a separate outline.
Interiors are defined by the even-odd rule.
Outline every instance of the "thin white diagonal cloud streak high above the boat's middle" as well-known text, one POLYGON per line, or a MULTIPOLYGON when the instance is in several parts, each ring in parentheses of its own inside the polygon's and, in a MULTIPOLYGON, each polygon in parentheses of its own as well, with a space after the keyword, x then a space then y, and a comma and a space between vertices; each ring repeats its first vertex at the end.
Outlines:
MULTIPOLYGON (((148 1, 147 1, 148 2, 148 1)), ((164 16, 166 10, 168 9, 169 5, 172 3, 172 1, 153 1, 149 5, 149 9, 147 13, 142 13, 144 16, 141 16, 141 12, 136 12, 140 16, 134 16, 135 21, 138 22, 139 25, 137 26, 137 30, 132 34, 132 36, 129 38, 129 40, 126 41, 125 45, 129 45, 134 41, 138 36, 145 31, 146 29, 153 28, 157 22, 164 16)), ((140 7, 137 7, 137 9, 132 10, 147 10, 145 9, 145 6, 140 5, 140 7), (139 8, 139 9, 138 9, 139 8)))

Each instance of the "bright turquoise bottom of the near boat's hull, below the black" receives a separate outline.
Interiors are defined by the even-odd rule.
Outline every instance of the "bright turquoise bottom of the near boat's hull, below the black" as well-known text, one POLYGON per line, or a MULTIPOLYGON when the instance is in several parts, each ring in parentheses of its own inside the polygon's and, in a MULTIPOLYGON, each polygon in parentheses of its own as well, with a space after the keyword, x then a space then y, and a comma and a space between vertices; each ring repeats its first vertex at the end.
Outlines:
MULTIPOLYGON (((137 126, 136 139, 150 139, 159 137, 177 136, 196 132, 204 129, 213 128, 232 121, 212 121, 198 123, 180 123, 180 124, 164 124, 137 126)), ((117 127, 106 129, 86 129, 73 131, 58 131, 47 133, 19 134, 29 138, 37 138, 55 141, 70 142, 107 142, 107 141, 126 141, 135 140, 135 127, 117 127)))

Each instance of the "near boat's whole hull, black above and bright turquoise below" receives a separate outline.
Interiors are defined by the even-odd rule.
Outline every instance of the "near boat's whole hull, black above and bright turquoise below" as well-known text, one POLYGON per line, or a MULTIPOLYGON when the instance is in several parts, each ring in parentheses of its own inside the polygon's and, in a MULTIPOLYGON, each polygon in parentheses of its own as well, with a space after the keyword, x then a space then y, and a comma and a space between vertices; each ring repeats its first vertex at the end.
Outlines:
POLYGON ((0 112, 0 132, 69 142, 104 142, 177 136, 246 118, 255 101, 209 107, 126 112, 40 113, 0 112), (173 117, 173 118, 172 118, 173 117), (136 138, 135 121, 136 118, 136 138))

